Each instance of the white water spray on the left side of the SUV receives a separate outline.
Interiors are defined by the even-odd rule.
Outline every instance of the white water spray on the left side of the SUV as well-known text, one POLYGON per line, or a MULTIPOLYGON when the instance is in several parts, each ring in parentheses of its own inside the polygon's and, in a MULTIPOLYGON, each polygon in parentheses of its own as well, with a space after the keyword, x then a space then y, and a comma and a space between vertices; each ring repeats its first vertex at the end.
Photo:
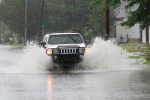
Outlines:
POLYGON ((45 49, 34 43, 24 48, 22 59, 18 62, 17 70, 21 72, 41 72, 52 67, 51 58, 46 55, 45 49))

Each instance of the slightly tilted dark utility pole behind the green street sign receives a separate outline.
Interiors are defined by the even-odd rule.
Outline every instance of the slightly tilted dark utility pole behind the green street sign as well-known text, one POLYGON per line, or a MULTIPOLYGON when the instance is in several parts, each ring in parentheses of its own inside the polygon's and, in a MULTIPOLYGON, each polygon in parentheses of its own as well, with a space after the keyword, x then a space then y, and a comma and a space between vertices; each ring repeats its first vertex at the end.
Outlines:
POLYGON ((41 42, 41 30, 42 30, 42 21, 43 21, 43 8, 44 8, 44 0, 42 0, 42 6, 41 6, 41 16, 40 16, 40 23, 39 23, 39 38, 38 43, 41 42))

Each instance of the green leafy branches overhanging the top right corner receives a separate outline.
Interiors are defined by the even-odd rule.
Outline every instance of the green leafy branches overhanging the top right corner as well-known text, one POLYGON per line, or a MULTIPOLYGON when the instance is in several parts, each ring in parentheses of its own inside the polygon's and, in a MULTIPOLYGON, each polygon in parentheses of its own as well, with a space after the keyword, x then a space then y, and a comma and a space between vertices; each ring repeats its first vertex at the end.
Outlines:
MULTIPOLYGON (((143 30, 145 27, 150 25, 150 1, 149 0, 108 0, 108 4, 106 7, 103 7, 101 13, 103 13, 106 9, 111 6, 116 8, 117 4, 120 4, 122 1, 126 1, 127 5, 126 9, 132 9, 132 7, 137 4, 138 8, 135 11, 129 11, 128 17, 126 21, 121 23, 122 26, 128 26, 129 28, 134 26, 136 23, 140 24, 141 29, 143 30)), ((92 2, 90 8, 97 6, 100 3, 104 3, 105 0, 96 0, 92 2)))

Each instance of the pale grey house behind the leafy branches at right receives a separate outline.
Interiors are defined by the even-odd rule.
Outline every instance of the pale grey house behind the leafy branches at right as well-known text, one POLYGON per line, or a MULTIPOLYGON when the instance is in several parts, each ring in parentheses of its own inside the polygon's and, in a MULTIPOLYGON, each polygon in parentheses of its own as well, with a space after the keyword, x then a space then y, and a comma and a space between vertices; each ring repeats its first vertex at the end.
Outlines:
POLYGON ((122 2, 121 6, 116 9, 118 12, 116 16, 116 38, 115 40, 120 43, 140 43, 143 42, 142 33, 140 32, 140 25, 137 23, 133 27, 122 27, 120 23, 123 20, 127 20, 126 11, 132 10, 135 11, 138 8, 138 5, 134 5, 131 9, 125 9, 127 2, 122 2))

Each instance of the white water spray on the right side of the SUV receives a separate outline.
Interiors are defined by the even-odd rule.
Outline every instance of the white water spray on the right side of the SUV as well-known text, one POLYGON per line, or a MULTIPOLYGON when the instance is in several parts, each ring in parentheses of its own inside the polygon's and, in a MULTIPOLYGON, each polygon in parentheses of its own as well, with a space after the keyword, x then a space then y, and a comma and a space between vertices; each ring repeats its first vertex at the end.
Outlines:
POLYGON ((125 70, 130 63, 126 51, 113 41, 96 38, 89 52, 85 54, 82 66, 87 69, 125 70))

